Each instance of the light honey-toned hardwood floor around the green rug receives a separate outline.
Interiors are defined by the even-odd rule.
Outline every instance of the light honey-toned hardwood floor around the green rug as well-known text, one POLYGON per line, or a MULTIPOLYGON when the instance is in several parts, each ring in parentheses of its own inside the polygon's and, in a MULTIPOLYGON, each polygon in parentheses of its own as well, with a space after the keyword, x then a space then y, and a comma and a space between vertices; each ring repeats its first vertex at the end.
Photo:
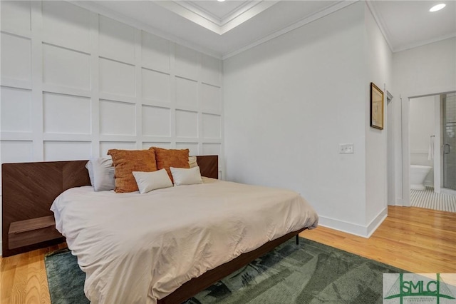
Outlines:
MULTIPOLYGON (((390 206, 371 238, 321 226, 301 236, 413 273, 456 273, 456 213, 390 206)), ((0 258, 0 303, 50 303, 44 255, 63 247, 0 258)))

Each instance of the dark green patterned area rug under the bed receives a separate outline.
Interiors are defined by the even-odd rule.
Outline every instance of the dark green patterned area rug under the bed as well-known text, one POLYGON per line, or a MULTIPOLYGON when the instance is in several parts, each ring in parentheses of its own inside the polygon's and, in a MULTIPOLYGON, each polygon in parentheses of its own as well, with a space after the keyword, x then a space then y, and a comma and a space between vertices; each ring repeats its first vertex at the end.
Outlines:
MULTIPOLYGON (((68 250, 46 256, 52 304, 89 303, 68 250)), ((383 273, 404 270, 300 238, 279 245, 185 304, 382 303, 383 273)))

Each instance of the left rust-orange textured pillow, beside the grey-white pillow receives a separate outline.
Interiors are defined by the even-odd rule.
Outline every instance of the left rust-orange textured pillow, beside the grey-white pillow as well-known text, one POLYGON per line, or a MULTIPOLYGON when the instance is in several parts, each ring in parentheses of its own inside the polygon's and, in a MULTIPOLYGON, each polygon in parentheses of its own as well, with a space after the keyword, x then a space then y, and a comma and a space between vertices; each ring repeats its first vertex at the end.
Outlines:
POLYGON ((118 150, 111 149, 108 155, 113 158, 115 168, 115 192, 138 191, 138 184, 133 171, 157 171, 155 152, 149 150, 118 150))

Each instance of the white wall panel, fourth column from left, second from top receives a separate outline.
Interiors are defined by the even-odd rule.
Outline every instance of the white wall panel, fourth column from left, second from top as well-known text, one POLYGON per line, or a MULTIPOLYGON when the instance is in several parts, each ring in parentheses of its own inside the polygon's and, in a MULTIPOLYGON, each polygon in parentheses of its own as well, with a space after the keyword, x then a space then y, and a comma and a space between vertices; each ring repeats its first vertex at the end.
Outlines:
POLYGON ((142 98, 154 101, 170 101, 170 75, 142 69, 142 98))

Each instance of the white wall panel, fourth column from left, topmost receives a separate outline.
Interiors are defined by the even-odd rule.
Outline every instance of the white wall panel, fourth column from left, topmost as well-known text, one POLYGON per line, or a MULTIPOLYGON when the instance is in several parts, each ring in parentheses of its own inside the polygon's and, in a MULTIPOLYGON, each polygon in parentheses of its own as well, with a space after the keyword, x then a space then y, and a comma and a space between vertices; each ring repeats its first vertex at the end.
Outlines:
POLYGON ((142 31, 142 63, 162 72, 170 72, 170 41, 142 31))

